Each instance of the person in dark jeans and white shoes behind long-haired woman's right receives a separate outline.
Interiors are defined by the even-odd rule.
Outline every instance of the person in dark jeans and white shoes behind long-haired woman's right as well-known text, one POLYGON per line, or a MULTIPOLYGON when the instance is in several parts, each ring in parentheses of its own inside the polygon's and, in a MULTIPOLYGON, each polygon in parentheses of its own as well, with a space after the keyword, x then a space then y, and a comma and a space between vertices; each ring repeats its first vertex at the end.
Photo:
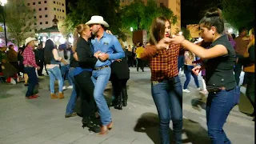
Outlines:
POLYGON ((72 80, 69 75, 69 70, 70 70, 70 51, 66 50, 66 44, 62 44, 58 46, 58 55, 67 63, 65 65, 63 62, 61 62, 61 73, 62 73, 62 80, 63 80, 63 87, 62 90, 68 89, 73 89, 73 84, 72 80), (65 86, 65 79, 67 78, 69 82, 69 86, 65 86))

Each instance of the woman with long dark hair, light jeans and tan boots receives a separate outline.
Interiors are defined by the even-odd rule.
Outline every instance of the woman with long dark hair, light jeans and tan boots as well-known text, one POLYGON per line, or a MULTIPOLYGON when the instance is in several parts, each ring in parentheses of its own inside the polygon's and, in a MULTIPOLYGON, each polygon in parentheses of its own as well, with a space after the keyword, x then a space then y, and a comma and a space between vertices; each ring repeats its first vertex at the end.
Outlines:
POLYGON ((64 62, 65 64, 66 62, 58 56, 58 50, 54 47, 54 42, 50 39, 46 41, 46 46, 44 48, 44 57, 46 63, 46 70, 48 71, 50 76, 50 97, 52 99, 64 98, 64 94, 62 92, 63 80, 59 65, 61 62, 64 62), (54 92, 55 78, 58 79, 58 96, 54 92))

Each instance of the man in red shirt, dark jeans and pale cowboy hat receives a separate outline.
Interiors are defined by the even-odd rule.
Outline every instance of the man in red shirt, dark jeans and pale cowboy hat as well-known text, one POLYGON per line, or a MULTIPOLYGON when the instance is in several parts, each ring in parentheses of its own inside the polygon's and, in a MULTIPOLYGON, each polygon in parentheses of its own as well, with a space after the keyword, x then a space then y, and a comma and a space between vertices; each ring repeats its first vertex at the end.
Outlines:
POLYGON ((38 98, 37 94, 34 94, 34 87, 38 83, 38 76, 35 73, 35 69, 40 70, 40 67, 36 64, 34 58, 34 48, 38 46, 38 42, 36 38, 26 38, 25 41, 26 48, 23 52, 23 64, 24 64, 24 72, 29 76, 29 87, 26 91, 27 99, 38 98))

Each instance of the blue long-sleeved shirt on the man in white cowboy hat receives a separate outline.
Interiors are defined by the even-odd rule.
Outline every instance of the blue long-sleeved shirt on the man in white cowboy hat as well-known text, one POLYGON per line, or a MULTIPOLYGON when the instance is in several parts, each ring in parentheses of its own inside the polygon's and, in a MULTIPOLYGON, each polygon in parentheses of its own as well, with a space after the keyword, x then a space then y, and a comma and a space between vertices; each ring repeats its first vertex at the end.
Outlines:
POLYGON ((94 46, 94 53, 101 51, 102 53, 109 54, 109 59, 105 62, 98 59, 95 67, 110 66, 113 60, 125 57, 125 52, 122 50, 122 46, 118 42, 118 38, 112 34, 106 34, 105 31, 99 41, 98 38, 94 38, 91 40, 91 43, 94 46))

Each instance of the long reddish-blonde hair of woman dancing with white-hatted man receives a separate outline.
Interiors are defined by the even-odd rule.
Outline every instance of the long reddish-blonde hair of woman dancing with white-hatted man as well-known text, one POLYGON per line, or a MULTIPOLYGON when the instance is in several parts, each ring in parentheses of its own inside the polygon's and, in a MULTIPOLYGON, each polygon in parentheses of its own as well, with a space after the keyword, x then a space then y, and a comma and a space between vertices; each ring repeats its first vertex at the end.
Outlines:
POLYGON ((74 28, 74 33, 73 33, 74 42, 73 42, 73 46, 72 46, 73 52, 75 52, 75 50, 77 49, 79 36, 82 37, 82 32, 87 29, 90 29, 90 26, 88 26, 86 24, 80 24, 74 28))

